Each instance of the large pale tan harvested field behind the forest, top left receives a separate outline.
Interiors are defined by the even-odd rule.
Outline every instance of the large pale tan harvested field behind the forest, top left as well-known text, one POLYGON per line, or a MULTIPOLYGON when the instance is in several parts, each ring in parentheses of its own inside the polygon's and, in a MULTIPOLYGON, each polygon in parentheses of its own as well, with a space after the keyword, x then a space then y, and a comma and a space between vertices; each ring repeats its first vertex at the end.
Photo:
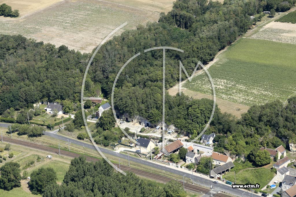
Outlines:
MULTIPOLYGON (((21 2, 25 4, 31 1, 35 0, 21 2)), ((128 22, 123 28, 127 30, 135 29, 139 24, 157 21, 160 12, 168 12, 172 8, 173 1, 64 0, 16 19, 1 17, 0 33, 21 34, 44 43, 66 45, 70 49, 91 52, 124 22, 128 22)), ((23 8, 25 9, 27 8, 23 8)), ((20 14, 22 15, 22 11, 20 14)), ((116 35, 120 35, 123 30, 116 35)))

